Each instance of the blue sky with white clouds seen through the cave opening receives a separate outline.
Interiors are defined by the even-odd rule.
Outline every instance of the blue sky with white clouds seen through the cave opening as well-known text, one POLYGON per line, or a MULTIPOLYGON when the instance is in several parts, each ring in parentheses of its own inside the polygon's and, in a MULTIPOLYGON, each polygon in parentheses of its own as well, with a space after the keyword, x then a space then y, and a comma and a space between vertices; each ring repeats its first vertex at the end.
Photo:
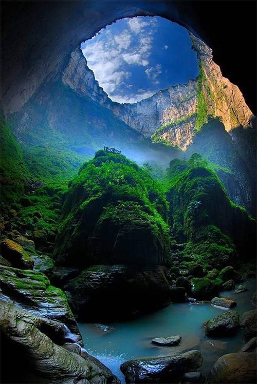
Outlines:
POLYGON ((198 73, 187 30, 159 16, 123 18, 81 44, 99 85, 119 103, 134 103, 198 73))

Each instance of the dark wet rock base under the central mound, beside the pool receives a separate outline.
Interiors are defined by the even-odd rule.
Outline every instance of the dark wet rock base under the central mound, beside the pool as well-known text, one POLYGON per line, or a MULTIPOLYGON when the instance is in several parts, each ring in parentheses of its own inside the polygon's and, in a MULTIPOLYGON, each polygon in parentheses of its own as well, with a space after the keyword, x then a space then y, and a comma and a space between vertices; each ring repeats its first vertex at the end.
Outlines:
POLYGON ((94 265, 71 279, 64 290, 81 320, 133 318, 171 302, 165 272, 163 266, 94 265))

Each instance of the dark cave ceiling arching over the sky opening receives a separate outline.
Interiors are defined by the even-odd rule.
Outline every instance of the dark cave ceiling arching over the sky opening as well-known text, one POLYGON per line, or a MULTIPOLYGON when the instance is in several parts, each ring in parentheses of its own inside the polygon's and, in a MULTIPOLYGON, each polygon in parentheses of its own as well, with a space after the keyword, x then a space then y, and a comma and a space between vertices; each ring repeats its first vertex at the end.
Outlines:
POLYGON ((43 82, 56 76, 81 41, 107 24, 121 17, 159 15, 185 26, 212 47, 214 61, 239 86, 255 113, 255 9, 251 1, 233 2, 233 10, 229 1, 4 1, 4 112, 19 110, 43 82))

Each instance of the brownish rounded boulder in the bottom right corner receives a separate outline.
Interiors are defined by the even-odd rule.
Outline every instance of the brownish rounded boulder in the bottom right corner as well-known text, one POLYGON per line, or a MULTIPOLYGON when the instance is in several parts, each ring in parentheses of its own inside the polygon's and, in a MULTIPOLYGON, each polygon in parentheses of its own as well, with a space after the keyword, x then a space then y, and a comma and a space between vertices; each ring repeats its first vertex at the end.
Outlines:
POLYGON ((208 383, 255 383, 256 354, 229 353, 219 357, 208 376, 208 383))

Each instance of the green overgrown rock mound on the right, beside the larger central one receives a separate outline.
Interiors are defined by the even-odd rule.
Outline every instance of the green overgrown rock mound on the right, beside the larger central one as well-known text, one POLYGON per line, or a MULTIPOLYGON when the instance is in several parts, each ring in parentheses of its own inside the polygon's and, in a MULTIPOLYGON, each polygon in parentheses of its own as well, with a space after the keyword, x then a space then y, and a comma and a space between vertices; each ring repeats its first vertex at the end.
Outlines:
POLYGON ((255 220, 229 199, 214 171, 197 158, 170 163, 169 220, 176 241, 187 242, 183 261, 223 267, 251 260, 255 220))

